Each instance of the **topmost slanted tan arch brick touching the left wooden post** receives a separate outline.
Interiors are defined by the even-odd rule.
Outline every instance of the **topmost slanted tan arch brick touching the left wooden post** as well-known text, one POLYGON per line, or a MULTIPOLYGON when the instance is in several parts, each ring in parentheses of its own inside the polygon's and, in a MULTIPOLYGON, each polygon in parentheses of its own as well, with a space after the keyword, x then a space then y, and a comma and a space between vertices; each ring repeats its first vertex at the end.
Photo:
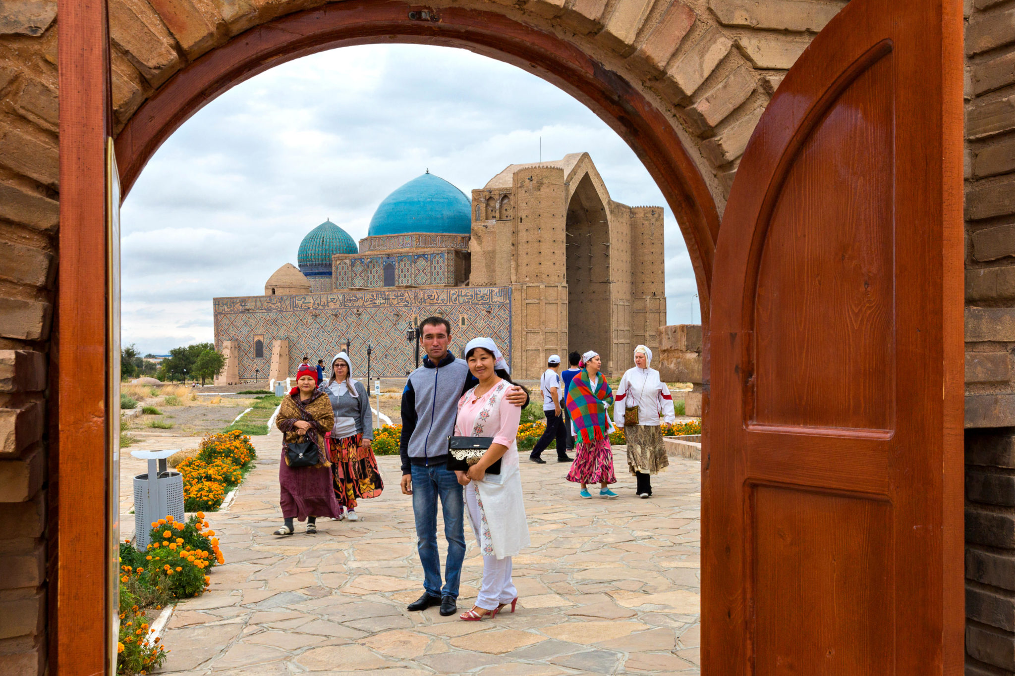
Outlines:
POLYGON ((110 39, 153 87, 182 67, 176 41, 142 0, 110 0, 110 39))

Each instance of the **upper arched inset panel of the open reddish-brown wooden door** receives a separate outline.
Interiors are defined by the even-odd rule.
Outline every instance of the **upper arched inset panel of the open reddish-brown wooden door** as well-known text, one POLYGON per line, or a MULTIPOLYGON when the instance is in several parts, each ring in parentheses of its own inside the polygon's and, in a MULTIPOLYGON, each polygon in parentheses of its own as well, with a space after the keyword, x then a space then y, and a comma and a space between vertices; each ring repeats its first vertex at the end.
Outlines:
POLYGON ((782 185, 767 219, 762 207, 746 298, 755 328, 751 422, 892 426, 890 45, 850 70, 855 79, 790 138, 796 152, 773 176, 782 185))

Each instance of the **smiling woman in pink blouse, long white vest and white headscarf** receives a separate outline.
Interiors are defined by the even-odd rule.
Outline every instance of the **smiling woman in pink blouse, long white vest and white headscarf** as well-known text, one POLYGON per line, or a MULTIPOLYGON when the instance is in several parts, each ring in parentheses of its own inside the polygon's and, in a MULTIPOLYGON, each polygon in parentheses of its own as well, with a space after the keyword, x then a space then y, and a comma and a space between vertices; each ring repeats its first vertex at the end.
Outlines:
POLYGON ((515 440, 522 409, 505 396, 514 385, 507 364, 487 337, 470 341, 465 347, 465 360, 479 384, 458 402, 455 436, 493 438, 479 462, 468 472, 456 472, 459 483, 465 486, 469 521, 483 555, 483 582, 476 604, 460 615, 461 619, 475 621, 493 618, 507 604, 515 612, 518 590, 511 578, 512 556, 529 546, 529 526, 515 440), (497 460, 500 473, 486 473, 497 460))

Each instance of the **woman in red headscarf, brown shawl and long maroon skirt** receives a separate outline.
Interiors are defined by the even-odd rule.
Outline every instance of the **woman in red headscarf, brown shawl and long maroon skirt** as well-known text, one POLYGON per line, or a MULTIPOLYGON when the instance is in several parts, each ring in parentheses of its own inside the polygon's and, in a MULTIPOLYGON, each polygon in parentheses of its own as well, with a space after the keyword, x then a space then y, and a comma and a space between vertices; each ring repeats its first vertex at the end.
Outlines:
MULTIPOLYGON (((331 464, 325 456, 325 435, 335 424, 328 395, 318 389, 317 369, 301 367, 296 386, 282 397, 275 425, 282 431, 282 460, 278 466, 281 487, 279 503, 285 524, 275 535, 291 535, 292 520, 307 520, 307 532, 317 532, 317 517, 338 518, 341 514, 332 489, 331 464), (289 444, 316 444, 318 462, 310 466, 290 466, 289 444)), ((311 451, 313 452, 313 451, 311 451)))

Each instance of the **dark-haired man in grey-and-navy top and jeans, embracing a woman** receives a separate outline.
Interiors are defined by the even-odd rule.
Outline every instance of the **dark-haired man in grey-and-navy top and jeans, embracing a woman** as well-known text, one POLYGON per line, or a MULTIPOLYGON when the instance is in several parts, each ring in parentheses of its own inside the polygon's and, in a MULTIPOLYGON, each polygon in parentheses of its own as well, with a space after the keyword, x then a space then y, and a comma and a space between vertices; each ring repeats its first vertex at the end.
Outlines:
MULTIPOLYGON (((458 400, 476 386, 477 380, 463 359, 449 352, 451 322, 427 317, 419 324, 426 357, 423 365, 409 374, 402 392, 402 493, 412 496, 416 520, 416 549, 423 565, 423 595, 409 604, 409 610, 425 610, 441 605, 442 615, 457 609, 458 587, 465 559, 465 529, 462 485, 448 469, 448 437, 455 431, 458 400), (437 554, 437 498, 444 514, 448 560, 444 587, 437 554)), ((521 387, 507 393, 507 400, 525 406, 529 395, 521 387)))

